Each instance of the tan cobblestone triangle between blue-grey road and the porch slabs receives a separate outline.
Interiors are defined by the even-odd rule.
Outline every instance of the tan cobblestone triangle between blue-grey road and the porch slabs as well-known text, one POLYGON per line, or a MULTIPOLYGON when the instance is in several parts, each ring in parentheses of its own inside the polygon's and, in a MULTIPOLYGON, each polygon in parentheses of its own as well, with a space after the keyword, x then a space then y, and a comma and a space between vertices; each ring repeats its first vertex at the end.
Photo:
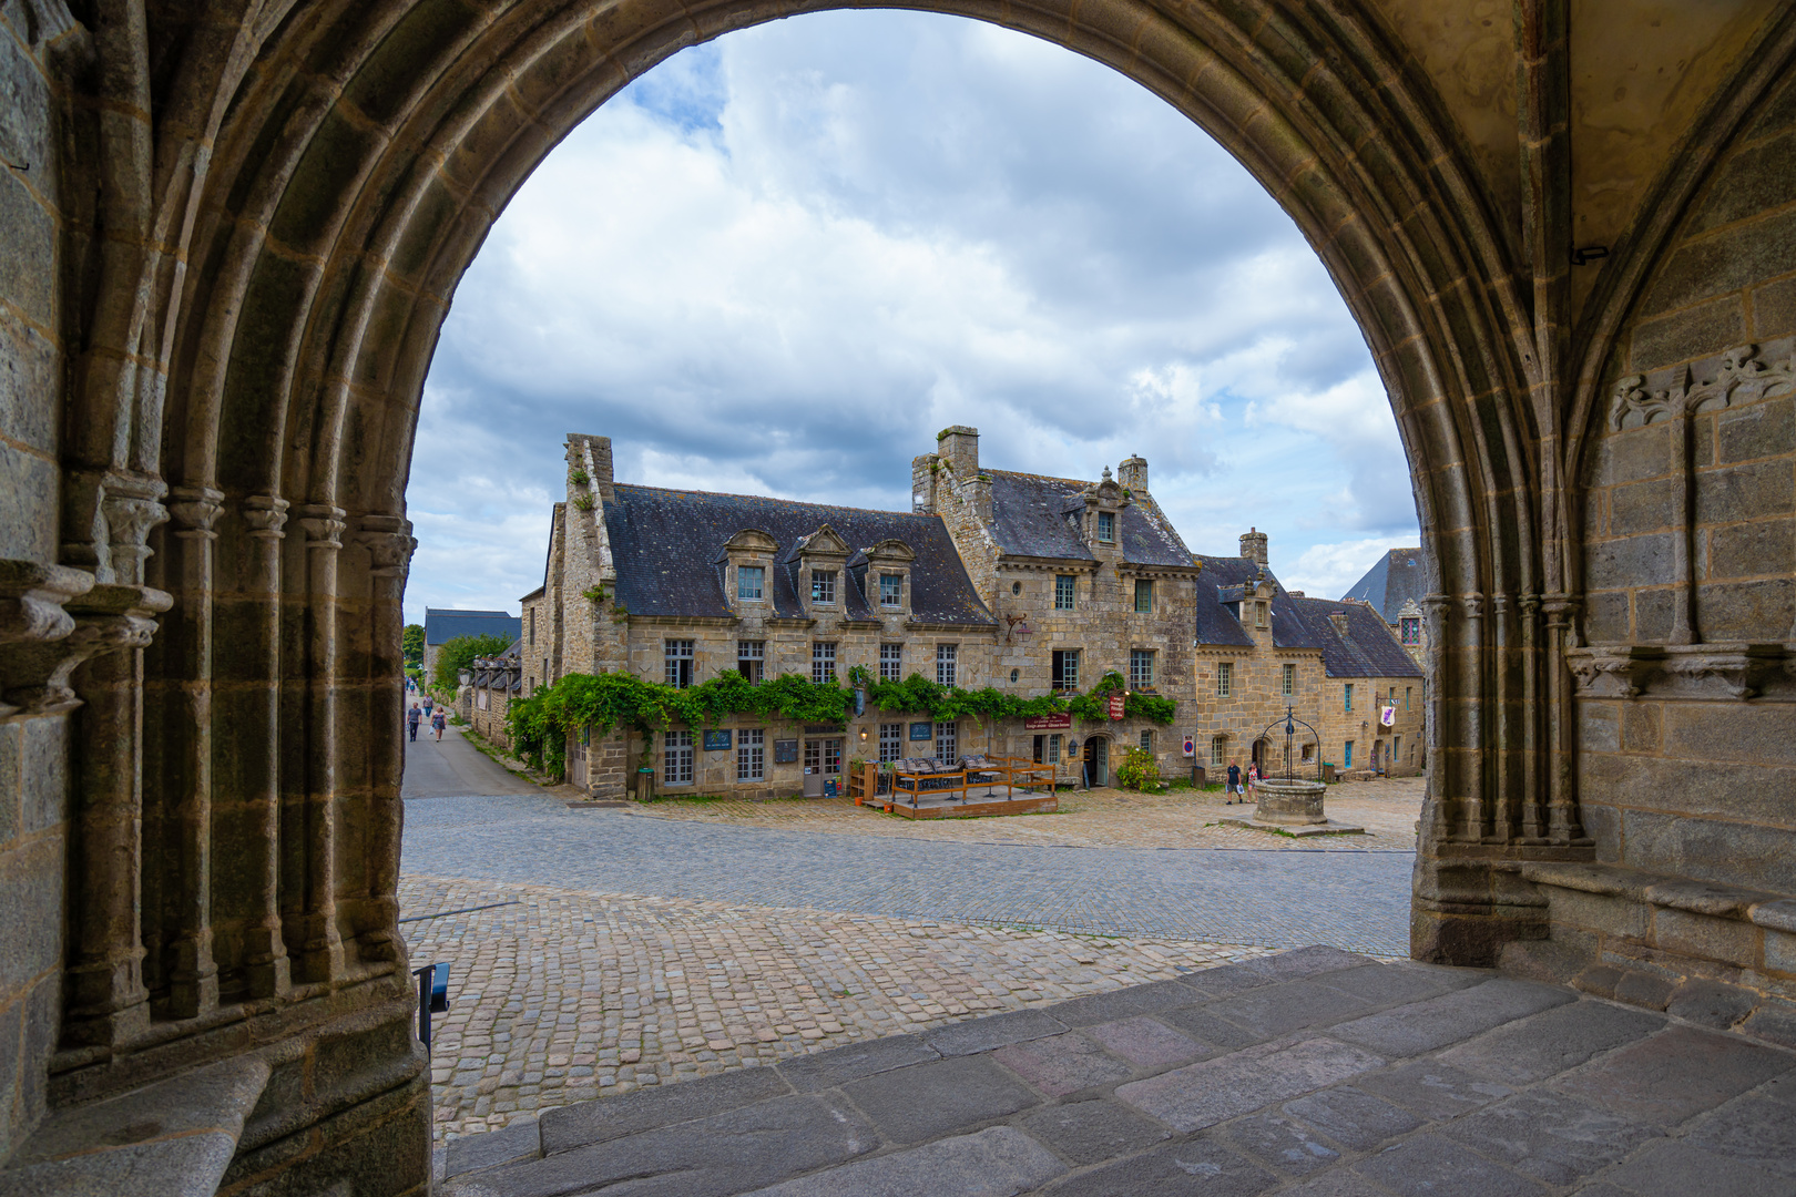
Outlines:
POLYGON ((1263 948, 584 894, 408 874, 415 964, 447 960, 436 1134, 600 1095, 1166 980, 1263 948))

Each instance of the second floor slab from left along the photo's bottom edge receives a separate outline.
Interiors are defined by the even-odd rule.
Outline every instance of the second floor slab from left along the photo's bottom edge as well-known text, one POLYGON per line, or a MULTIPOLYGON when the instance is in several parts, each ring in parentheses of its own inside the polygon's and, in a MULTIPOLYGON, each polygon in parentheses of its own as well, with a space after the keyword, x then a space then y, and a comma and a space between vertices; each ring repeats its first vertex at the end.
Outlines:
POLYGON ((1015 1127, 988 1127, 858 1159, 749 1197, 1017 1197, 1065 1174, 1051 1150, 1015 1127))

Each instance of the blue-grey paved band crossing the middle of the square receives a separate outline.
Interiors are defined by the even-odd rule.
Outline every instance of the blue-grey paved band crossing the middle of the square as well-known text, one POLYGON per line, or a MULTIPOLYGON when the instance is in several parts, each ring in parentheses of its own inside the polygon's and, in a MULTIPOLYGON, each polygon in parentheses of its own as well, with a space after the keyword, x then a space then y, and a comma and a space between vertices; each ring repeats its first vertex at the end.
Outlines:
POLYGON ((1408 951, 1412 861, 817 834, 541 795, 408 802, 404 840, 406 870, 438 878, 1378 957, 1408 951))

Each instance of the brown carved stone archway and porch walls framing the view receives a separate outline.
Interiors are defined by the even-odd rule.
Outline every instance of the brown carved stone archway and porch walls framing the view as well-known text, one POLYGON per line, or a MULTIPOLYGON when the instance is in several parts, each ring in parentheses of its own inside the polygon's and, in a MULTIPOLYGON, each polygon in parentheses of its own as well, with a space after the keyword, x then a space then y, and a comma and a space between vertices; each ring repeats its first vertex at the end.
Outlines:
MULTIPOLYGON (((1796 1037, 1796 5, 923 7, 1166 97, 1363 332, 1431 580, 1412 953, 1796 1037)), ((792 9, 542 11, 0 5, 0 1161, 40 1186, 429 1188, 431 354, 623 77, 792 9), (92 1105, 145 1088, 162 1129, 92 1105)))

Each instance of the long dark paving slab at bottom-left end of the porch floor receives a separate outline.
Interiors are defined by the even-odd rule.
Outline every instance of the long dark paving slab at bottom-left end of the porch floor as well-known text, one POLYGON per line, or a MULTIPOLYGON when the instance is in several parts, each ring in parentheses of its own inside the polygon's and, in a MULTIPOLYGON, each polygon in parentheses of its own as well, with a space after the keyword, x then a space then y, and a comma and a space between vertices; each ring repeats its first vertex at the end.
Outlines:
POLYGON ((575 1147, 444 1184, 442 1197, 731 1197, 846 1163, 878 1147, 848 1102, 830 1095, 756 1102, 697 1122, 575 1147))

